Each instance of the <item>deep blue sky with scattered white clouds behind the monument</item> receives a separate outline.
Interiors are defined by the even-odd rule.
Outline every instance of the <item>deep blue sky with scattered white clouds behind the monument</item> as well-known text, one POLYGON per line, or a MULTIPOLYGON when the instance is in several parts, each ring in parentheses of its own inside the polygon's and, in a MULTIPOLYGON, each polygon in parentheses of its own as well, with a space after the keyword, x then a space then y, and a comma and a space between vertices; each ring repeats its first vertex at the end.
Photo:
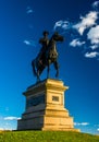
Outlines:
POLYGON ((99 1, 94 0, 0 1, 0 129, 16 129, 25 110, 22 93, 36 82, 30 62, 45 29, 65 37, 58 44, 59 79, 70 86, 65 107, 75 128, 99 134, 99 1))

